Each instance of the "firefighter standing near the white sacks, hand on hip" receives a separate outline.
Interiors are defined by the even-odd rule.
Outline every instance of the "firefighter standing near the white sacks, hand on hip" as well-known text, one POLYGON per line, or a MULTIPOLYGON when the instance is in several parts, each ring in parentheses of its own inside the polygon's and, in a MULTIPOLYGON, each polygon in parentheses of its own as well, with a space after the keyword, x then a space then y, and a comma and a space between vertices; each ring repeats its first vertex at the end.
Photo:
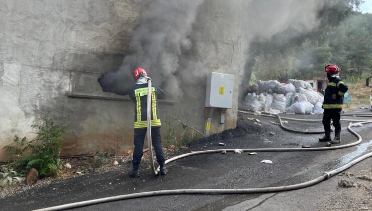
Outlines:
POLYGON ((336 65, 331 64, 326 66, 325 72, 327 73, 327 78, 329 80, 324 93, 323 102, 323 126, 325 135, 323 138, 319 139, 319 141, 331 142, 331 144, 339 144, 341 143, 340 117, 343 104, 343 95, 348 88, 339 77, 340 70, 336 65), (335 127, 335 137, 333 141, 331 140, 331 120, 333 121, 333 126, 335 127))

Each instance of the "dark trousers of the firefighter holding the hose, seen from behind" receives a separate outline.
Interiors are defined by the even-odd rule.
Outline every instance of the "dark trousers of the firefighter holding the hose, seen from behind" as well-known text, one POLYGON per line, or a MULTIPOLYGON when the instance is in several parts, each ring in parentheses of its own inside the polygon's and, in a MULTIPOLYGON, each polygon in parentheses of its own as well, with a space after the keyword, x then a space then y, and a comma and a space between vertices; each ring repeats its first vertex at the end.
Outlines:
MULTIPOLYGON (((133 165, 138 166, 141 162, 146 131, 147 128, 134 129, 133 165)), ((157 162, 164 162, 163 148, 161 147, 160 127, 151 128, 151 140, 152 146, 154 146, 155 149, 157 162)))

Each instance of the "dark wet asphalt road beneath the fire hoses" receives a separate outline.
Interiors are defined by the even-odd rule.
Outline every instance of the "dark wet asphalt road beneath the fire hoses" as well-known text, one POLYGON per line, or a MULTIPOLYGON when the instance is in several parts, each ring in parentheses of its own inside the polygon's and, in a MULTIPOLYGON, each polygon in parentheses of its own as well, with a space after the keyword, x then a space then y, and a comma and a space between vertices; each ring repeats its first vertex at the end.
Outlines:
MULTIPOLYGON (((322 117, 282 116, 302 119, 321 119, 322 117)), ((247 117, 252 118, 252 116, 240 115, 237 129, 192 142, 187 152, 223 148, 298 148, 301 145, 311 145, 312 147, 325 145, 325 143, 318 142, 318 138, 322 135, 289 133, 277 125, 269 123, 273 119, 264 117, 255 117, 263 124, 263 126, 257 126, 247 117), (270 135, 270 132, 273 132, 274 135, 270 135), (225 143, 226 146, 219 146, 219 142, 225 143)), ((347 132, 347 125, 348 123, 342 123, 342 144, 356 140, 355 136, 347 132)), ((286 126, 309 131, 322 129, 321 123, 289 121, 286 126)), ((248 153, 197 155, 168 164, 169 173, 166 176, 151 175, 148 163, 142 163, 141 176, 136 179, 128 178, 127 173, 130 170, 130 164, 128 164, 119 171, 90 173, 52 182, 41 188, 0 199, 0 210, 32 210, 151 190, 250 188, 301 183, 316 178, 323 172, 337 168, 371 150, 372 133, 370 131, 372 124, 354 129, 363 138, 363 142, 355 147, 314 152, 258 152, 256 155, 248 155, 248 153), (261 163, 264 159, 271 160, 272 163, 261 163)), ((371 162, 370 159, 363 162, 371 162)), ((322 188, 321 184, 314 186, 314 188, 322 188)), ((80 207, 76 210, 248 210, 274 196, 274 193, 271 195, 166 195, 115 201, 80 207), (255 205, 252 206, 252 204, 255 205)), ((272 207, 272 209, 275 208, 280 207, 272 207)))

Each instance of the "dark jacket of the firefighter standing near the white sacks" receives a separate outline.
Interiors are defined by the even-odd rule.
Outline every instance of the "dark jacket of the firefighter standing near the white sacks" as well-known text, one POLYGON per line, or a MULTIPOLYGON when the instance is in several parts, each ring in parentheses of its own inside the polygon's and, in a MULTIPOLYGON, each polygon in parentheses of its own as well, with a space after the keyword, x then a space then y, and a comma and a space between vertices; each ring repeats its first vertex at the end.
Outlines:
POLYGON ((343 95, 347 89, 340 78, 331 77, 324 93, 323 109, 342 109, 343 95), (336 94, 336 99, 332 98, 333 94, 336 94))

